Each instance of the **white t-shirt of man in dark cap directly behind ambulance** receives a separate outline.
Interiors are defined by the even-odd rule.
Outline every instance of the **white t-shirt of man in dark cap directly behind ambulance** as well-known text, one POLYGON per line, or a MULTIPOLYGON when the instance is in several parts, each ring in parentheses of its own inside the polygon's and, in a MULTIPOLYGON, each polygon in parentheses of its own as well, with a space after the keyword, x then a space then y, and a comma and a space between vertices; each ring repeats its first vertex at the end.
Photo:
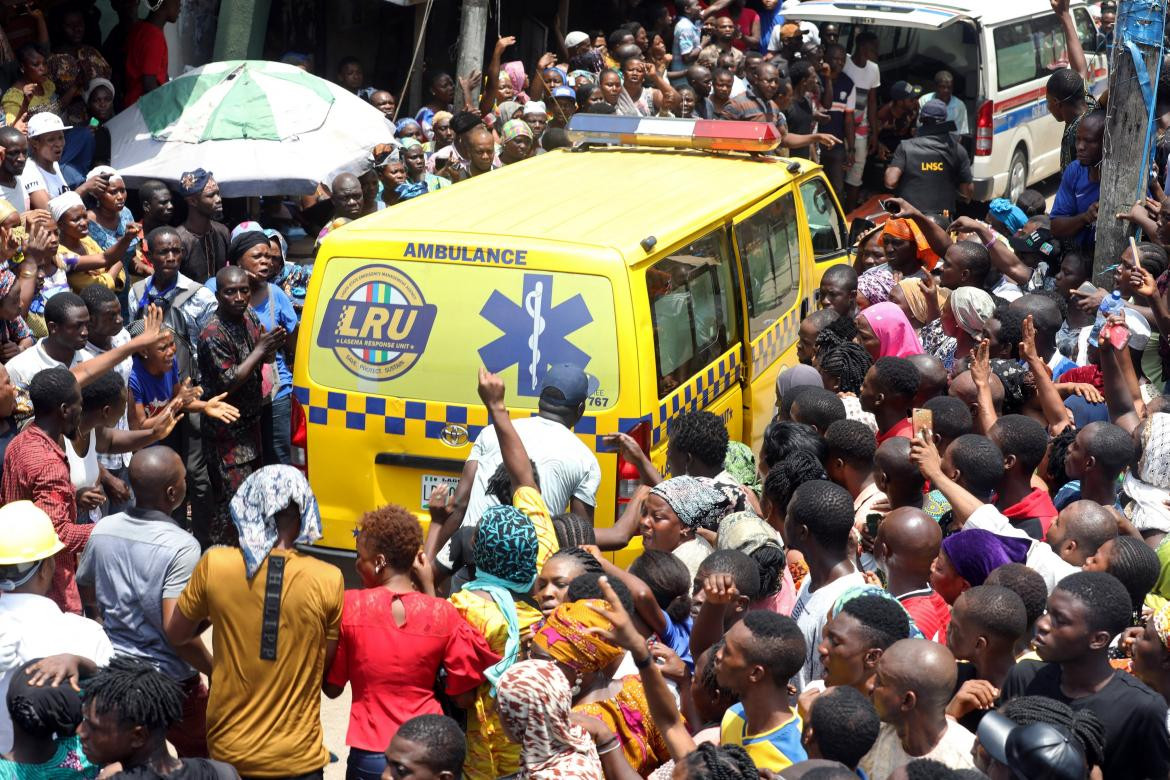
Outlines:
MULTIPOLYGON (((541 496, 552 515, 559 515, 569 502, 579 498, 597 505, 597 489, 601 484, 601 467, 597 456, 569 428, 545 417, 512 420, 528 457, 536 463, 541 477, 541 496)), ((475 525, 483 511, 496 503, 487 495, 488 479, 496 472, 503 457, 495 426, 484 428, 467 458, 476 462, 475 483, 467 499, 463 525, 475 525)))

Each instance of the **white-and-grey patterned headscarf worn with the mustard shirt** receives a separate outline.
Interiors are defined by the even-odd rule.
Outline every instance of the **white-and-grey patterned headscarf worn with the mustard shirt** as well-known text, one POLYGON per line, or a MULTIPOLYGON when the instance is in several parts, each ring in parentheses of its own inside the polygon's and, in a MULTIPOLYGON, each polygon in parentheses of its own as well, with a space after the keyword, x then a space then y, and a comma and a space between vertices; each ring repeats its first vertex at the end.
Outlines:
POLYGON ((301 512, 297 544, 321 538, 321 512, 309 481, 291 465, 266 465, 254 471, 232 498, 229 509, 240 531, 240 550, 248 579, 276 546, 276 513, 296 504, 301 512))

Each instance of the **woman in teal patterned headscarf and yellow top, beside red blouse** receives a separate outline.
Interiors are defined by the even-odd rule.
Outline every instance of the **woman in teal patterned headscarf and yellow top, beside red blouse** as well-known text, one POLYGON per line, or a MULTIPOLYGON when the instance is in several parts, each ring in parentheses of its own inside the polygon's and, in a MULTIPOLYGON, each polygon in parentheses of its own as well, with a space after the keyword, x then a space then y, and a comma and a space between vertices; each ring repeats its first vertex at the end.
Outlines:
POLYGON ((541 620, 541 613, 526 601, 538 567, 544 565, 539 554, 532 520, 515 506, 490 506, 475 531, 475 579, 450 596, 455 609, 501 657, 486 670, 488 679, 467 711, 463 774, 469 780, 495 780, 519 769, 519 748, 502 730, 493 699, 501 675, 519 658, 524 636, 541 620))

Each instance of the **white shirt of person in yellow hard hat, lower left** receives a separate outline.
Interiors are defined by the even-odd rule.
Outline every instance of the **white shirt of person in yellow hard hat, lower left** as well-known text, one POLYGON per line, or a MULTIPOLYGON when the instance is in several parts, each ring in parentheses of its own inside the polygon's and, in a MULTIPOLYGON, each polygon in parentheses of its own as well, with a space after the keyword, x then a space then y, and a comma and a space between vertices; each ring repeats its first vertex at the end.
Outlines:
MULTIPOLYGON (((8 697, 8 681, 33 658, 70 653, 99 667, 110 662, 113 647, 102 627, 81 615, 61 612, 44 596, 5 593, 0 596, 0 699, 8 697)), ((12 750, 12 717, 0 707, 0 753, 12 750)))

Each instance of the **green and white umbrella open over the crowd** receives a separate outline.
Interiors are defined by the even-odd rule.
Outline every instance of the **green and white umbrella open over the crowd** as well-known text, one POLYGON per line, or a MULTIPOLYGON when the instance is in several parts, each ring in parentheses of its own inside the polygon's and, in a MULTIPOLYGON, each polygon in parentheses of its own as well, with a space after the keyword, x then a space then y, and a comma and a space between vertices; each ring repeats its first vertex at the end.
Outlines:
POLYGON ((381 111, 300 68, 234 60, 191 70, 110 119, 130 186, 211 171, 228 198, 307 194, 393 140, 381 111))

